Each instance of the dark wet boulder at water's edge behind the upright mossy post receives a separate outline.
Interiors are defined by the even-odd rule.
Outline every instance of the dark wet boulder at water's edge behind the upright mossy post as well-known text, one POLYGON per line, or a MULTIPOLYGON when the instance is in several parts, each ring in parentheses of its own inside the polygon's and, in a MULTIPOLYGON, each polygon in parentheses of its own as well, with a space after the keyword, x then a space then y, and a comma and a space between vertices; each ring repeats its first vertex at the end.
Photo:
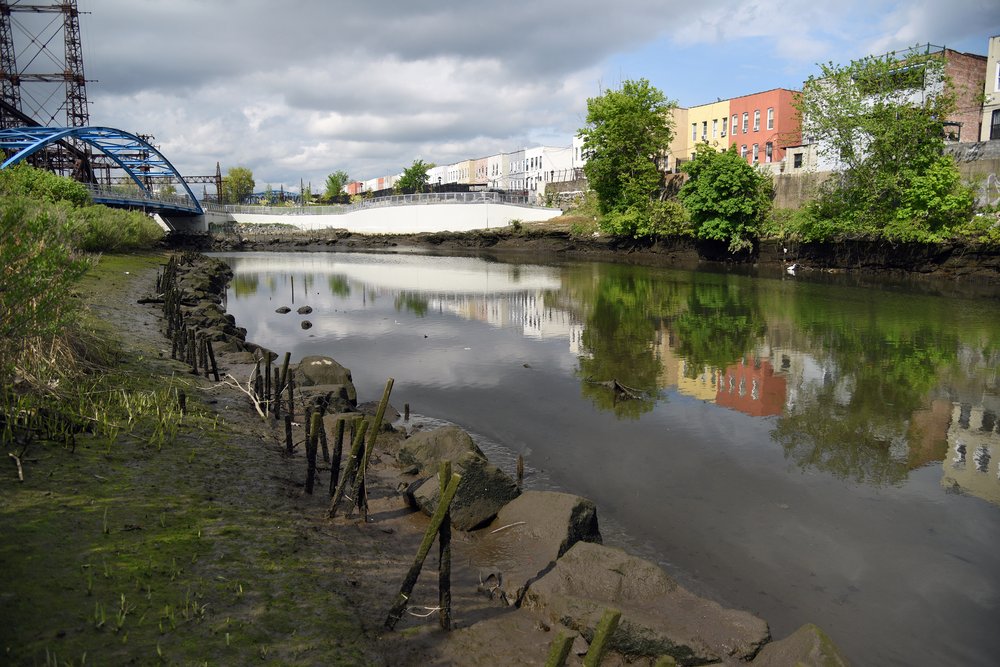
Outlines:
MULTIPOLYGON (((452 470, 462 476, 451 503, 451 525, 458 530, 474 530, 488 523, 520 493, 511 476, 481 454, 466 452, 452 461, 452 470)), ((414 504, 428 515, 437 509, 440 498, 441 483, 436 475, 428 477, 412 495, 414 504)))

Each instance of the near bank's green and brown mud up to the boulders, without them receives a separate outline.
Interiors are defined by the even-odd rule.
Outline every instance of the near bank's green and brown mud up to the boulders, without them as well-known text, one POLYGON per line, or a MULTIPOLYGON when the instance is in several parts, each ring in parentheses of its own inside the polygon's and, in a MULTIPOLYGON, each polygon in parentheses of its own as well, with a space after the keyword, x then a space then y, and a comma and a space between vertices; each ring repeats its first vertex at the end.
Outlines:
MULTIPOLYGON (((326 494, 303 491, 301 447, 283 455, 281 429, 256 417, 231 386, 249 376, 254 346, 220 345, 230 385, 170 359, 159 306, 137 303, 155 296, 157 266, 105 264, 87 301, 122 340, 123 363, 137 381, 183 388, 191 417, 169 447, 154 451, 129 436, 89 443, 79 456, 46 451, 24 486, 5 488, 4 534, 12 539, 2 561, 16 584, 3 612, 18 619, 15 633, 2 637, 8 657, 15 664, 50 651, 91 662, 542 664, 556 634, 551 619, 477 590, 482 573, 463 567, 476 545, 466 533, 456 534, 456 631, 438 630, 433 615, 381 631, 426 525, 399 490, 413 477, 395 465, 405 432, 380 436, 369 481, 373 520, 326 519, 326 494), (74 547, 60 548, 66 543, 74 547), (40 599, 51 604, 30 610, 40 599)), ((294 439, 302 439, 298 427, 294 439)), ((320 471, 321 489, 328 474, 320 471)), ((415 605, 436 600, 431 570, 415 605)), ((783 663, 758 656, 754 664, 783 663)))

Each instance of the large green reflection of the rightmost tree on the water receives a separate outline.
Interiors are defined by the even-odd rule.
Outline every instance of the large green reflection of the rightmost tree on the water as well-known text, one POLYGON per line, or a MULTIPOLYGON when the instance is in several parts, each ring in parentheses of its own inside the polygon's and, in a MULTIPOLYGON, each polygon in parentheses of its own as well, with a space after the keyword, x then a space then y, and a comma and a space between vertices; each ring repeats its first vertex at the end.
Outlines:
POLYGON ((957 338, 891 318, 845 326, 812 315, 807 329, 839 377, 802 387, 772 436, 802 468, 867 484, 901 483, 909 472, 910 420, 955 363, 957 338))

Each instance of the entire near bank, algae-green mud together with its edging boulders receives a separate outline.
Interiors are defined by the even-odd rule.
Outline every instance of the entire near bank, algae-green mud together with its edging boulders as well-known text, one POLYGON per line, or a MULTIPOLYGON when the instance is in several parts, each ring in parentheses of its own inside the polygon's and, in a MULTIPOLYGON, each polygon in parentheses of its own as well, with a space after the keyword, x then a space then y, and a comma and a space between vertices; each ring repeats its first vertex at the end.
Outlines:
POLYGON ((306 360, 293 364, 289 453, 283 420, 261 418, 244 391, 262 350, 219 305, 227 267, 180 260, 185 316, 218 325, 217 381, 173 358, 182 355, 162 317, 171 299, 157 290, 166 263, 105 256, 81 290, 116 352, 80 391, 114 397, 105 402, 118 406, 114 419, 95 415, 100 428, 21 446, 23 479, 13 463, 0 477, 0 662, 543 665, 560 664, 548 660, 564 636, 573 640, 565 664, 576 665, 602 615, 618 609, 600 664, 843 664, 815 626, 770 641, 764 620, 601 545, 593 503, 512 487, 454 427, 386 419, 365 482, 367 520, 328 518, 330 464, 319 463, 307 492, 305 408, 319 399, 375 421, 366 401, 377 397, 355 398, 311 377, 306 360), (445 453, 452 442, 465 449, 445 453), (484 509, 490 494, 474 488, 456 495, 453 629, 439 626, 432 550, 409 613, 387 631, 442 457, 503 486, 494 495, 506 504, 484 509))

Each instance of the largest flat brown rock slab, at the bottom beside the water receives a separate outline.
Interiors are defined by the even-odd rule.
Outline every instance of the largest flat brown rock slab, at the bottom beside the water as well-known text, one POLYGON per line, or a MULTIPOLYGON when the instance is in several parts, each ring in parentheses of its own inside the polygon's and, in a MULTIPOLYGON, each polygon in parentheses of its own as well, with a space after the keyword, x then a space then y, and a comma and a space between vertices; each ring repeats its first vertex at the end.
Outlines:
POLYGON ((657 565, 621 549, 577 542, 531 584, 522 606, 593 639, 608 608, 622 612, 611 648, 626 656, 673 656, 681 665, 749 660, 768 640, 767 623, 700 598, 657 565))

